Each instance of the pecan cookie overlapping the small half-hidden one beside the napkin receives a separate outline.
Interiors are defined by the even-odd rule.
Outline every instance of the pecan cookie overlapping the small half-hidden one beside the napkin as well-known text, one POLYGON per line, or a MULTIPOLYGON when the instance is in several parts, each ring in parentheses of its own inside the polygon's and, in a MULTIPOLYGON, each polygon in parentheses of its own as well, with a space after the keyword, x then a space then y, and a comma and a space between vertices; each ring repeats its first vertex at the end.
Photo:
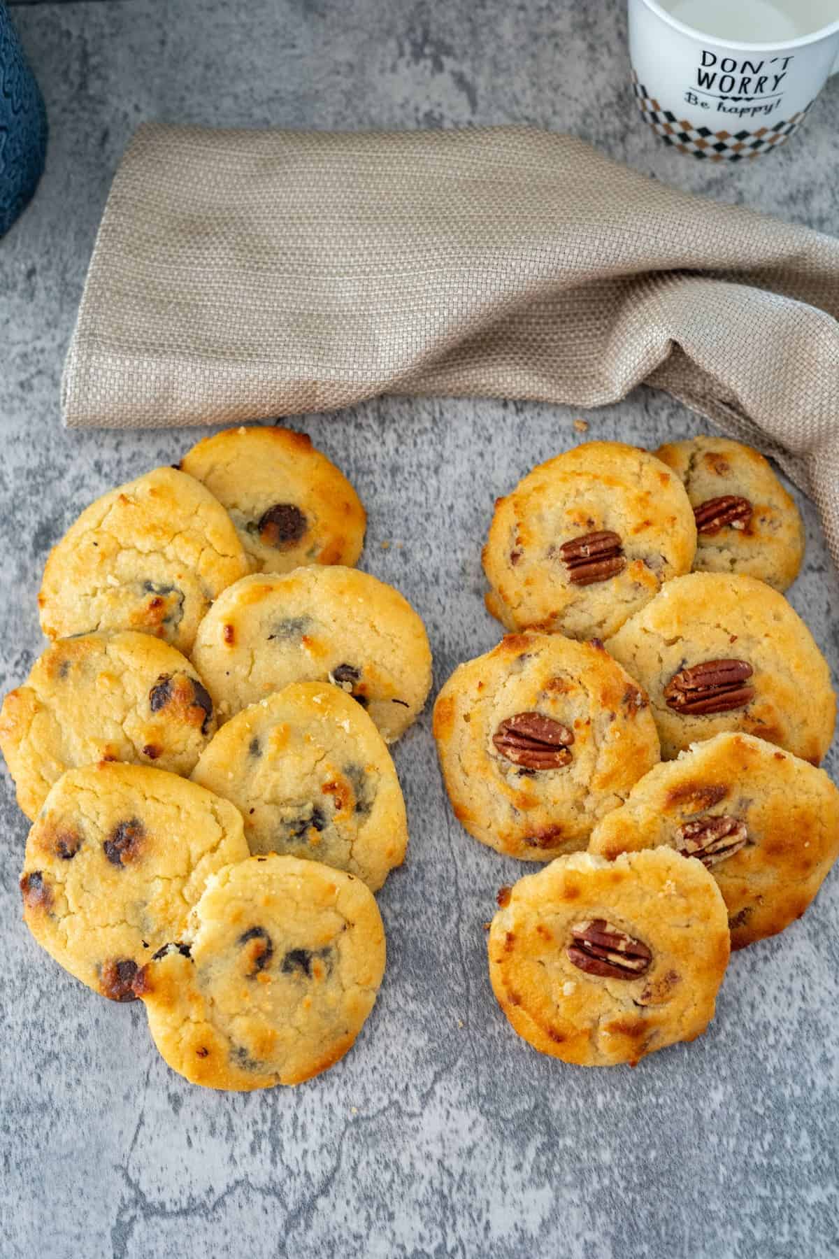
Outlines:
POLYGON ((694 550, 678 476, 634 446, 586 442, 496 502, 487 608, 507 630, 605 638, 688 573, 694 550))

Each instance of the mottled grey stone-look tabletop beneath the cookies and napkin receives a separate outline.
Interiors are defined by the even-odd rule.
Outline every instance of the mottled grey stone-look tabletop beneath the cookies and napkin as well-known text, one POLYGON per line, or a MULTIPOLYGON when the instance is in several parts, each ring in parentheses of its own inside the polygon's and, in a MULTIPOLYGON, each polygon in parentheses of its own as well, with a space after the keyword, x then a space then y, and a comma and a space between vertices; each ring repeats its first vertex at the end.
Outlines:
MULTIPOLYGON (((14 15, 50 150, 36 200, 0 243, 5 687, 39 650, 49 545, 96 495, 196 437, 59 427, 87 259, 141 120, 527 121, 654 178, 839 230, 839 81, 769 159, 732 170, 682 157, 635 116, 620 0, 114 0, 14 15)), ((649 392, 587 418, 590 437, 650 446, 701 429, 649 392)), ((357 485, 370 511, 364 565, 425 618, 438 685, 497 640, 479 565, 493 499, 579 441, 572 419, 551 407, 387 399, 301 422, 357 485)), ((835 661, 836 577, 803 509, 809 553, 792 602, 835 661)), ((696 1045, 635 1070, 566 1068, 517 1040, 487 980, 483 923, 522 867, 452 818, 429 714, 396 762, 411 845, 380 896, 380 1003, 328 1075, 249 1097, 186 1085, 157 1058, 140 1007, 97 998, 35 948, 16 891, 26 827, 4 777, 0 1254, 836 1254, 839 878, 785 937, 733 959, 717 1022, 696 1045)))

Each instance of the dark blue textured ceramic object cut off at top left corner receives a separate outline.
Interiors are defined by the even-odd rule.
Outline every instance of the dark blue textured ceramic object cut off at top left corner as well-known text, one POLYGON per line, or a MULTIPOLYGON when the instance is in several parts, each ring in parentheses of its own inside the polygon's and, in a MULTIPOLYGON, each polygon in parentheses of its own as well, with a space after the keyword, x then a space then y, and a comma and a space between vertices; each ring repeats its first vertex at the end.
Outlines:
POLYGON ((44 98, 0 0, 0 235, 35 191, 45 152, 44 98))

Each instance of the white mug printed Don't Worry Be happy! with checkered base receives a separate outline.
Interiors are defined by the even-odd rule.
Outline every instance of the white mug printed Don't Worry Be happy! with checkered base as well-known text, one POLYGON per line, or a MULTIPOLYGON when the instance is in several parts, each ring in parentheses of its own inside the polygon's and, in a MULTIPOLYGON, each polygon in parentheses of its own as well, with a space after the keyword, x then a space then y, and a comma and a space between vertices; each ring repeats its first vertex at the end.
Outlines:
MULTIPOLYGON (((786 3, 795 14, 795 0, 786 3)), ((810 4, 813 13, 839 8, 833 0, 810 4)), ((839 71, 839 15, 777 43, 761 42, 767 28, 755 21, 752 43, 703 35, 668 11, 679 8, 674 0, 629 0, 633 84, 647 122, 681 152, 711 161, 742 161, 785 144, 839 71)), ((737 20, 742 25, 742 11, 737 20)))

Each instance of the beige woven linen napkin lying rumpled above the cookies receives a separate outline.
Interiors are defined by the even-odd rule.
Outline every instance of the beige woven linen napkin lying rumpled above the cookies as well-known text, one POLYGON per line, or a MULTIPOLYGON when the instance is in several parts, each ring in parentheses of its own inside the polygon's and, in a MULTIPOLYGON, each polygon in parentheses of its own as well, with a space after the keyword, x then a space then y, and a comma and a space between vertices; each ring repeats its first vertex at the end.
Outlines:
POLYGON ((775 454, 839 556, 839 243, 527 127, 140 128, 63 380, 70 427, 381 393, 579 407, 640 381, 775 454))

